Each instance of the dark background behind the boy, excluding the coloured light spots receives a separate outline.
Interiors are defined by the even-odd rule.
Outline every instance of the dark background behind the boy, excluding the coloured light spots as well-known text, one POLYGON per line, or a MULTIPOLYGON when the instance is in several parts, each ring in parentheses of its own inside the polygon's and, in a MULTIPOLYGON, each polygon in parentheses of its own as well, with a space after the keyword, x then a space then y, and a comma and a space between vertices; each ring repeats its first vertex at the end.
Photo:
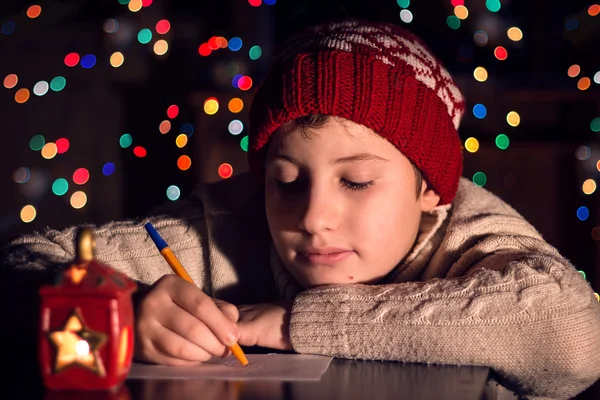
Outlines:
POLYGON ((585 272, 595 289, 600 287, 600 202, 598 193, 582 191, 586 179, 598 180, 600 175, 600 134, 590 127, 600 117, 600 85, 594 82, 600 71, 600 16, 588 15, 591 2, 503 0, 500 11, 492 13, 484 0, 466 0, 470 14, 456 30, 446 24, 446 18, 453 15, 450 0, 412 1, 408 9, 414 20, 409 24, 400 20, 401 8, 395 0, 279 0, 259 7, 247 0, 154 0, 135 13, 117 0, 56 0, 39 2, 42 13, 35 19, 26 15, 31 4, 23 0, 0 4, 0 26, 9 21, 16 26, 10 34, 0 33, 0 79, 12 73, 19 77, 15 88, 0 86, 2 243, 47 227, 62 229, 144 215, 169 202, 166 190, 170 185, 177 185, 183 198, 195 183, 221 179, 217 169, 224 162, 233 166, 234 173, 246 171, 240 140, 247 127, 237 136, 227 127, 232 119, 246 124, 252 93, 265 75, 271 52, 286 36, 308 24, 356 16, 405 25, 429 44, 465 94, 461 138, 475 137, 480 143, 477 152, 465 152, 464 176, 471 179, 476 172, 485 173, 488 190, 521 212, 585 272), (103 29, 110 18, 119 24, 114 33, 103 29), (161 19, 171 23, 165 35, 154 29, 161 19), (576 28, 567 29, 567 25, 576 28), (511 26, 523 31, 523 40, 507 38, 511 26), (148 44, 137 40, 142 28, 153 31, 148 44), (488 33, 485 46, 475 44, 477 30, 488 33), (237 52, 219 49, 208 57, 200 56, 198 47, 212 36, 238 36, 243 47, 237 52), (169 44, 163 56, 152 51, 157 39, 169 44), (263 50, 258 60, 248 55, 255 45, 263 50), (505 61, 493 55, 500 45, 508 50, 505 61), (119 68, 109 63, 115 51, 125 56, 119 68), (94 54, 97 63, 89 69, 67 67, 63 60, 70 52, 94 54), (573 64, 581 67, 576 78, 567 75, 573 64), (487 81, 473 78, 477 66, 488 70, 487 81), (238 73, 252 77, 251 90, 231 84, 238 73), (43 96, 32 93, 24 104, 15 101, 19 88, 31 91, 36 82, 50 82, 57 75, 67 80, 64 90, 50 90, 43 96), (587 90, 577 88, 583 76, 592 79, 587 90), (210 116, 203 110, 209 97, 216 97, 220 105, 210 116), (233 97, 244 101, 240 114, 227 109, 233 97), (483 119, 472 113, 477 103, 487 107, 483 119), (171 131, 161 134, 159 124, 169 119, 166 110, 172 104, 179 106, 179 115, 171 120, 171 131), (512 110, 521 116, 518 127, 506 122, 512 110), (175 137, 184 123, 192 124, 194 133, 180 149, 175 137), (133 136, 133 145, 126 149, 119 146, 124 133, 133 136), (500 133, 511 140, 506 150, 494 144, 500 133), (36 134, 44 135, 46 142, 67 138, 70 148, 46 160, 29 147, 36 134), (143 146, 148 155, 136 157, 135 146, 143 146), (582 146, 589 147, 587 159, 581 159, 587 151, 582 146), (190 170, 177 168, 182 154, 191 157, 190 170), (116 165, 111 176, 102 173, 106 162, 116 165), (89 181, 81 186, 71 178, 80 167, 90 172, 89 181), (15 182, 18 168, 30 172, 27 182, 15 182), (58 178, 69 181, 63 196, 51 190, 58 178), (69 204, 76 190, 88 197, 81 209, 69 204), (26 205, 37 210, 30 223, 20 218, 26 205), (582 206, 590 212, 584 221, 577 217, 582 206))

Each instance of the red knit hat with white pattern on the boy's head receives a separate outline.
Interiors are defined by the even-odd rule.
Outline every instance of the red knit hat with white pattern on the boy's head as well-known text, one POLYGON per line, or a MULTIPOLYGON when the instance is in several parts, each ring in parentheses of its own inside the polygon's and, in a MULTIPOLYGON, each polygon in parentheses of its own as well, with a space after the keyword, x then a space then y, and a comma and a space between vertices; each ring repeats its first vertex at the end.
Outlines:
POLYGON ((343 117, 396 146, 440 195, 462 174, 463 96, 425 44, 389 23, 344 20, 308 28, 276 54, 250 110, 248 161, 264 180, 269 138, 311 114, 343 117))

